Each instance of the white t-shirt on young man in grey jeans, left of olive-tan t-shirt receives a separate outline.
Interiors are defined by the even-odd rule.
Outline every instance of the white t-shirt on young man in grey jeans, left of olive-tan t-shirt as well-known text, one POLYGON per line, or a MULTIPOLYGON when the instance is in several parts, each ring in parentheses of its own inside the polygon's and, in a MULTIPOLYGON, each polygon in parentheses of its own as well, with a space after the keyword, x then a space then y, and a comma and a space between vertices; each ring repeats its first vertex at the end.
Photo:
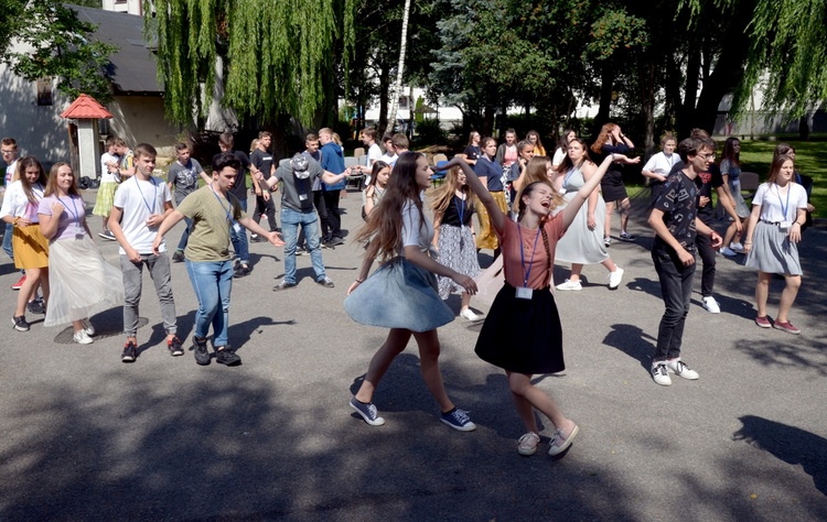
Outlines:
MULTIPOLYGON (((139 177, 140 174, 136 174, 132 180, 120 184, 115 193, 114 205, 123 211, 120 227, 127 242, 138 253, 148 254, 152 253, 152 241, 158 236, 158 227, 149 228, 147 218, 150 214, 163 214, 164 203, 172 202, 172 195, 163 180, 150 177, 149 181, 140 181, 139 177)), ((159 250, 167 251, 167 240, 161 241, 159 250)), ((121 255, 127 253, 122 247, 118 252, 121 255)))

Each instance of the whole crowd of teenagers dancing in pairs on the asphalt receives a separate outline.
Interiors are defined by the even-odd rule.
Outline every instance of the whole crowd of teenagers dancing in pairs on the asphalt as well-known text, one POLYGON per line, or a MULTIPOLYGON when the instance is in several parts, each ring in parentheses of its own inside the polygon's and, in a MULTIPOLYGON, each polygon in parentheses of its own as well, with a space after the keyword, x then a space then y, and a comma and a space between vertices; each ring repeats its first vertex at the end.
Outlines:
MULTIPOLYGON (((562 326, 551 290, 581 291, 583 265, 597 263, 609 272, 609 289, 621 285, 624 271, 608 253, 611 217, 616 209, 621 224, 616 238, 635 241, 627 228, 631 200, 623 166, 641 162, 632 141, 614 123, 603 126, 591 145, 571 129, 561 135, 549 156, 535 131, 517 141, 509 129, 501 144, 472 132, 463 153, 440 167, 447 175, 438 187, 432 186, 434 173, 428 159, 408 151, 405 134, 383 137, 383 148, 372 128, 362 132, 367 153, 353 167, 345 168, 344 150, 331 129, 308 134, 304 151, 280 161, 270 152, 269 132, 259 133, 249 155, 236 150, 234 137, 225 133, 219 138, 221 153, 212 160, 212 175, 191 157, 186 144, 179 143, 165 181, 153 176, 158 154, 152 145, 141 143, 132 151, 122 140, 110 138, 100 159, 103 176, 93 215, 103 218, 100 239, 118 242, 119 267, 107 263, 95 244, 72 167, 57 163, 46 174, 37 159, 18 159, 17 142, 6 138, 3 248, 23 271, 12 286, 19 290, 13 327, 30 329, 26 311, 45 314, 45 326, 72 324, 74 340, 90 344, 96 329, 89 317, 120 306, 126 336, 121 360, 133 362, 139 354, 138 309, 146 268, 159 300, 169 352, 182 356, 171 263, 184 262, 198 302, 192 341, 195 361, 203 366, 215 358, 237 366, 240 358, 229 345, 228 313, 233 280, 253 270, 248 242, 283 247, 284 276, 273 291, 299 284, 297 257, 303 254, 310 257, 315 282, 334 287, 322 249, 344 242, 340 197, 348 176, 362 176, 364 226, 355 241, 363 247, 364 260, 347 289, 344 308, 355 322, 388 329, 388 335, 370 359, 351 407, 369 425, 385 423, 374 394, 414 337, 422 379, 440 407, 440 420, 459 431, 475 428, 469 413, 448 396, 439 367, 438 328, 455 318, 445 300, 460 294, 460 316, 484 320, 476 355, 505 371, 526 429, 517 442, 518 453, 536 453, 539 412, 554 425, 548 453, 561 454, 579 427, 531 380, 565 369, 562 326), (247 214, 248 173, 255 194, 253 216, 247 214), (259 225, 262 217, 269 230, 259 225), (168 250, 164 236, 182 220, 184 232, 175 249, 168 250), (481 249, 492 250, 495 258, 484 272, 481 249), (552 281, 556 261, 571 264, 570 276, 558 285, 552 281), (375 263, 378 269, 372 272, 375 263), (493 303, 483 318, 471 309, 471 300, 483 284, 492 283, 493 303)), ((743 253, 745 265, 758 271, 755 324, 801 333, 790 313, 802 278, 797 243, 814 208, 807 203, 812 180, 795 171, 790 145, 776 148, 769 178, 752 197, 751 209, 741 194, 737 139, 726 141, 720 164, 715 162, 717 143, 704 130, 696 129, 679 142, 666 134, 662 146, 643 166, 643 175, 652 187, 647 211, 655 235, 652 260, 665 304, 651 374, 655 383, 669 385, 670 376, 699 378, 681 358, 696 251, 704 263, 701 293, 708 312, 720 313, 712 291, 716 252, 723 246, 723 254, 743 253), (723 237, 713 229, 718 219, 713 189, 724 218, 731 219, 723 237), (786 284, 772 319, 767 294, 774 274, 786 284)))

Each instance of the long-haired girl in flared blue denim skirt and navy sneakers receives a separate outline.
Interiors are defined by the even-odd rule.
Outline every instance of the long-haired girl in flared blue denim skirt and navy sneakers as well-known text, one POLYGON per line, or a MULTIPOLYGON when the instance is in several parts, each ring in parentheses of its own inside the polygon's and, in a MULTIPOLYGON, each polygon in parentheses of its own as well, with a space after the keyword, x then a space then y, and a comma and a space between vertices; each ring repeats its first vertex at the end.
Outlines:
POLYGON ((433 227, 422 213, 421 193, 430 186, 432 174, 423 155, 404 152, 394 166, 385 195, 356 236, 357 241, 369 240, 369 243, 358 278, 347 289, 345 309, 357 323, 390 331, 370 359, 365 379, 351 399, 351 407, 372 426, 385 424, 372 402, 373 395, 390 363, 414 336, 419 346, 422 379, 442 411, 441 421, 454 429, 470 432, 476 426, 466 412, 454 406, 442 384, 437 328, 452 322, 454 315, 437 294, 434 274, 451 278, 470 294, 476 292, 476 283, 430 255, 433 227), (368 278, 374 259, 383 264, 368 278))

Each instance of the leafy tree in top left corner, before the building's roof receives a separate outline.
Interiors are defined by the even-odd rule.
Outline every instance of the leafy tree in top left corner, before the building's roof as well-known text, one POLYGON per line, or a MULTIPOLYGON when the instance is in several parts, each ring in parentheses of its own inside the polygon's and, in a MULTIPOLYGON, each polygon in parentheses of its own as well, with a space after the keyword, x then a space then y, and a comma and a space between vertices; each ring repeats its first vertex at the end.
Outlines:
POLYGON ((106 67, 117 47, 93 41, 94 24, 82 22, 75 11, 56 0, 4 3, 13 19, 3 25, 2 59, 14 74, 29 81, 55 77, 57 89, 71 98, 86 93, 103 104, 112 99, 106 67), (11 40, 30 51, 11 52, 11 40))

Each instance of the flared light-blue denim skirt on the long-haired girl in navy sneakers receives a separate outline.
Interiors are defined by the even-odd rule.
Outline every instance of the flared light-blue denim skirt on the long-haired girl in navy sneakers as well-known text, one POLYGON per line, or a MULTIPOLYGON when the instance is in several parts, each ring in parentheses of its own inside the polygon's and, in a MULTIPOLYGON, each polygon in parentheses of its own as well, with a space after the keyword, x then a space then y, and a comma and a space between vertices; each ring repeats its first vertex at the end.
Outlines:
POLYGON ((430 331, 454 319, 437 294, 437 278, 404 258, 383 264, 344 301, 356 323, 430 331))

